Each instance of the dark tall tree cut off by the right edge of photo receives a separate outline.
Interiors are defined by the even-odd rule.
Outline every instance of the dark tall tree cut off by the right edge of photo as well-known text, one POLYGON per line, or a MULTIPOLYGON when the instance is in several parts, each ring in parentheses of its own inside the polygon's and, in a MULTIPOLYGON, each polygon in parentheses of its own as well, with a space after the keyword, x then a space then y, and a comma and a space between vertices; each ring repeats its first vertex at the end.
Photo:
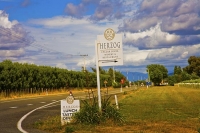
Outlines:
POLYGON ((188 59, 188 66, 184 70, 189 74, 196 74, 200 77, 200 57, 190 56, 188 59))

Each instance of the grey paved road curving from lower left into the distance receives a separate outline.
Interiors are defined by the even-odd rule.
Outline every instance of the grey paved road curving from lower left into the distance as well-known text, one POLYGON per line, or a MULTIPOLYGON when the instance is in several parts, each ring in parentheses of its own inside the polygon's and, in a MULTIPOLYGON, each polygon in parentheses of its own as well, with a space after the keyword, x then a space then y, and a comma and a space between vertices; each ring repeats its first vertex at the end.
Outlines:
MULTIPOLYGON (((123 91, 130 90, 130 88, 123 89, 123 91)), ((109 91, 109 94, 115 93, 121 93, 120 89, 109 91)), ((86 94, 83 91, 77 92, 74 95, 76 99, 83 99, 86 97, 86 94)), ((20 133, 17 128, 17 122, 25 114, 35 110, 38 107, 54 103, 49 105, 48 108, 35 110, 22 121, 22 128, 28 133, 44 133, 43 131, 34 129, 32 124, 44 117, 60 114, 60 100, 65 99, 67 96, 68 94, 58 94, 0 101, 0 133, 20 133)))

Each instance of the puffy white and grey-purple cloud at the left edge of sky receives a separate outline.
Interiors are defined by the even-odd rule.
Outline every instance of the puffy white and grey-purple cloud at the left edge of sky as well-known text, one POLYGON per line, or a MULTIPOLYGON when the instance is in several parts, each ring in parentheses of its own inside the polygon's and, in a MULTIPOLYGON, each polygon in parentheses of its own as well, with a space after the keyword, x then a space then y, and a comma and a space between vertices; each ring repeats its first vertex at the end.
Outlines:
POLYGON ((0 57, 19 57, 33 42, 17 21, 9 21, 8 14, 0 10, 0 57))

